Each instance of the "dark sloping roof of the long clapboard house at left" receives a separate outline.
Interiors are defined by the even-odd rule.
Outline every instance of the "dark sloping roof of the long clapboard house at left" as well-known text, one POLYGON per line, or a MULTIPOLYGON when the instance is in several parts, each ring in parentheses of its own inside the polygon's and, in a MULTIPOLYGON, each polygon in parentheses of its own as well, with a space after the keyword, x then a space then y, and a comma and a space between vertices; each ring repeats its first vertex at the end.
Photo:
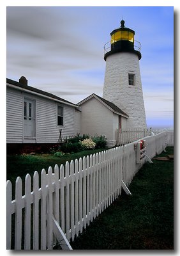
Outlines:
POLYGON ((57 100, 58 102, 61 102, 61 103, 64 103, 64 104, 67 104, 67 105, 70 105, 70 106, 73 106, 75 108, 78 108, 79 106, 77 106, 77 104, 74 104, 68 100, 64 100, 60 97, 57 97, 56 95, 52 94, 52 93, 49 93, 49 92, 45 92, 45 91, 42 91, 40 89, 37 89, 37 88, 34 88, 32 86, 29 86, 29 85, 26 85, 26 84, 22 84, 22 83, 19 83, 17 81, 13 81, 11 79, 6 79, 6 83, 7 85, 13 85, 11 87, 13 88, 17 88, 19 90, 23 90, 25 92, 31 92, 33 94, 36 94, 36 95, 40 95, 42 97, 46 97, 46 98, 50 98, 52 100, 57 100))

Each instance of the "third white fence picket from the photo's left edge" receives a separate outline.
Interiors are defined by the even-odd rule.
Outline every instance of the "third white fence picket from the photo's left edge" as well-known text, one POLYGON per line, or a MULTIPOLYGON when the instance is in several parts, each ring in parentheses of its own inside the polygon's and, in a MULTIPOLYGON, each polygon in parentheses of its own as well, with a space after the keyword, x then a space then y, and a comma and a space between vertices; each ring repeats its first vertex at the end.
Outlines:
POLYGON ((24 250, 31 248, 31 176, 25 178, 24 250))

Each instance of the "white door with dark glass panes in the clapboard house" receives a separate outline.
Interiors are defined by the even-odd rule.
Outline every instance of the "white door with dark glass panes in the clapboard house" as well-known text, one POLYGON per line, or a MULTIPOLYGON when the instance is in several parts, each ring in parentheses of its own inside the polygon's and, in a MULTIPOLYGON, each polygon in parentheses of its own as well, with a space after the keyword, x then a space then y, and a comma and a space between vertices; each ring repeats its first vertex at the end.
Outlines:
POLYGON ((35 137, 35 102, 24 99, 24 137, 35 137))

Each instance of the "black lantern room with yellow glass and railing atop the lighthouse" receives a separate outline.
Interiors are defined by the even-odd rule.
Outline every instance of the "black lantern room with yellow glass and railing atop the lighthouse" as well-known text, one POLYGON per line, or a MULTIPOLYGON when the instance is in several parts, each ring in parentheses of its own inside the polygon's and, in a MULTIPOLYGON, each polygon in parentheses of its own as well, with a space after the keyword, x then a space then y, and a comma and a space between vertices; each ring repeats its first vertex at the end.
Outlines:
POLYGON ((124 20, 121 20, 121 27, 114 29, 110 33, 110 47, 105 44, 105 56, 104 59, 106 60, 107 56, 110 54, 114 54, 116 52, 133 52, 137 54, 139 60, 141 59, 140 53, 140 43, 137 42, 139 45, 136 46, 135 49, 135 40, 134 40, 135 31, 130 28, 126 28, 124 26, 124 20))

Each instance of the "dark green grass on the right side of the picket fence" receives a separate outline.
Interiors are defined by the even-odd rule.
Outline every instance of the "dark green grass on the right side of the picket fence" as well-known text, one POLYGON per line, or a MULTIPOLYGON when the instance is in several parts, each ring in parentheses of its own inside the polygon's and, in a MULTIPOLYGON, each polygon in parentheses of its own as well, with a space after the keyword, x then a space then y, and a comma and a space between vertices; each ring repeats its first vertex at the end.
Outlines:
POLYGON ((122 193, 71 242, 73 250, 173 250, 173 169, 173 161, 144 164, 129 186, 132 195, 122 193))

